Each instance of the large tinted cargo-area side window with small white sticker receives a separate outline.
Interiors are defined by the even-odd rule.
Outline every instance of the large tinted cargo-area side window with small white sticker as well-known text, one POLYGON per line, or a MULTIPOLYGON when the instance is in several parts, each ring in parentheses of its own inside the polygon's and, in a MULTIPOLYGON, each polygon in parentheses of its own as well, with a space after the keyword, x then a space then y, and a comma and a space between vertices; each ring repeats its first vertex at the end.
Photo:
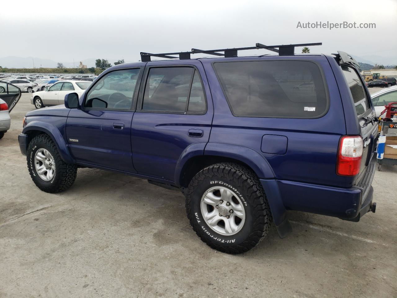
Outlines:
POLYGON ((308 61, 217 62, 235 116, 316 118, 328 100, 318 66, 308 61))

